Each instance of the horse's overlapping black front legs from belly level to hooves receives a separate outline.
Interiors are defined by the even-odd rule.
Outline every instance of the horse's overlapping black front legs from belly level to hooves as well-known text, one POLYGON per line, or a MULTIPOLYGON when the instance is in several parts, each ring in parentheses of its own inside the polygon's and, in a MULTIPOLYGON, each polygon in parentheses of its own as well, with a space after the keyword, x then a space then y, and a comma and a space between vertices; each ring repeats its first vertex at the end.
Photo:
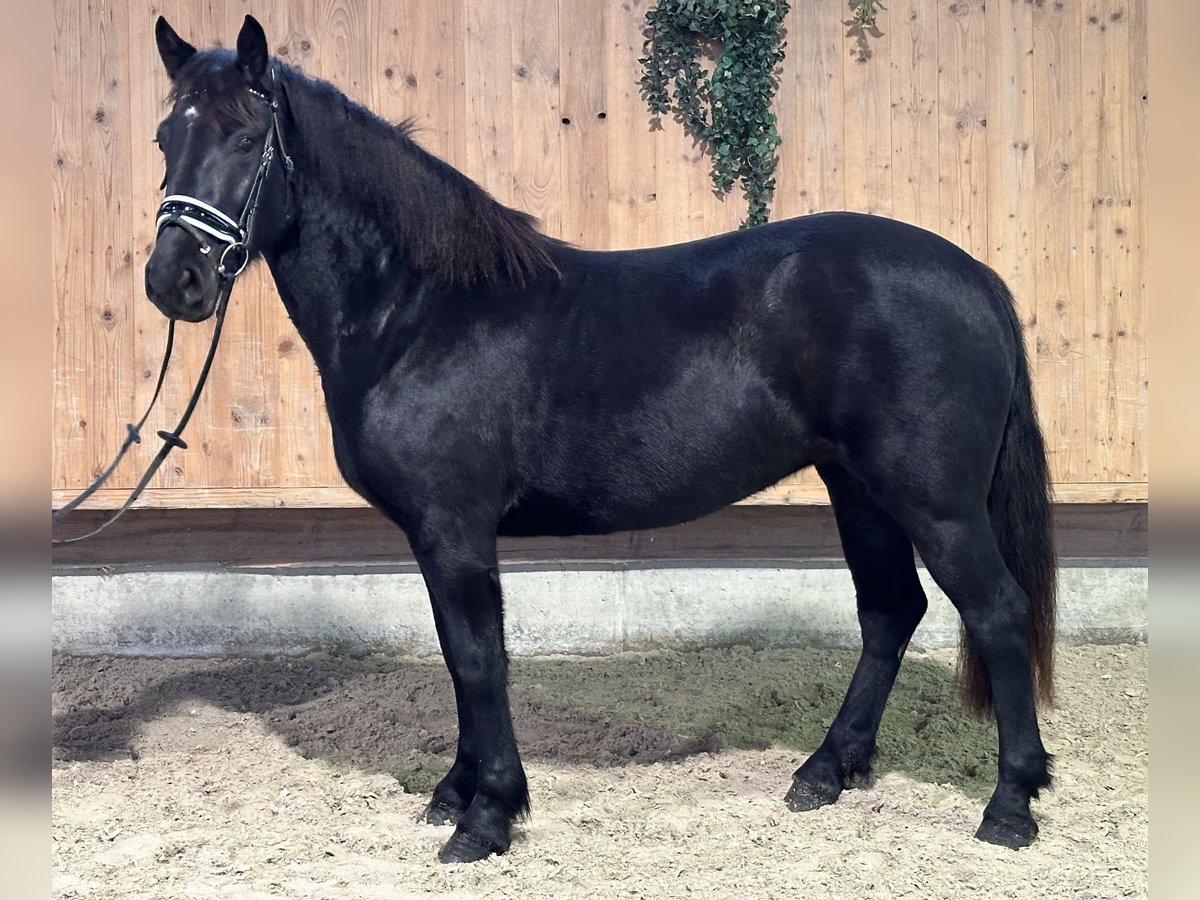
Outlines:
POLYGON ((428 822, 456 822, 443 863, 509 848, 529 809, 509 713, 508 658, 494 533, 478 540, 414 541, 458 704, 458 752, 433 791, 428 822))

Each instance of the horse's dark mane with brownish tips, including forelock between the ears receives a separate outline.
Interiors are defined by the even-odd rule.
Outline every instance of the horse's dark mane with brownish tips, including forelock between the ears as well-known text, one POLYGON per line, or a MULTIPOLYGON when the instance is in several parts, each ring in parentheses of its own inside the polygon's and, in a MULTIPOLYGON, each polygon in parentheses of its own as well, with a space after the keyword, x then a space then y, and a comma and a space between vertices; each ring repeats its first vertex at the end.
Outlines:
MULTIPOLYGON (((426 152, 412 139, 412 120, 384 121, 328 82, 277 61, 271 67, 298 178, 317 178, 329 197, 354 198, 415 268, 460 284, 502 278, 524 284, 557 274, 554 241, 538 230, 536 220, 426 152)), ((229 50, 196 54, 178 73, 170 101, 184 96, 194 96, 222 130, 260 121, 265 110, 246 90, 229 50)))

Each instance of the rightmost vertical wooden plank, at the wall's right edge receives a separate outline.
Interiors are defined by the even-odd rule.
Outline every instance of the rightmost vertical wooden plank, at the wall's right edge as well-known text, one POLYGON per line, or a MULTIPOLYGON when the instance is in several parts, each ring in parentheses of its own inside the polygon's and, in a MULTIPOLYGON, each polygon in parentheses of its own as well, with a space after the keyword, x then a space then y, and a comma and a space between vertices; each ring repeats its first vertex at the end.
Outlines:
POLYGON ((1135 78, 1130 60, 1140 40, 1133 34, 1140 29, 1130 26, 1135 19, 1130 0, 1090 0, 1084 13, 1084 185, 1091 199, 1085 275, 1091 329, 1086 474, 1088 481, 1129 481, 1142 470, 1133 436, 1145 395, 1139 359, 1144 338, 1135 319, 1144 294, 1140 211, 1135 209, 1145 196, 1135 145, 1142 127, 1133 114, 1141 97, 1134 91, 1144 92, 1145 80, 1135 78))

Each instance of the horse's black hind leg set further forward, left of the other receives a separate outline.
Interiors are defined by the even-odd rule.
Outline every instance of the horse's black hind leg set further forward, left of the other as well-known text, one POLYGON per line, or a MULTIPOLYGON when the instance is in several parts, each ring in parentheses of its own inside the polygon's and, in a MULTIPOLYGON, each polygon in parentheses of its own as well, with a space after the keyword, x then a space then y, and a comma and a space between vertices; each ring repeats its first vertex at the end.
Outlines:
POLYGON ((912 542, 900 526, 845 469, 830 464, 820 473, 854 580, 863 652, 826 739, 796 770, 786 800, 794 811, 833 803, 844 788, 870 782, 883 707, 926 605, 912 542))

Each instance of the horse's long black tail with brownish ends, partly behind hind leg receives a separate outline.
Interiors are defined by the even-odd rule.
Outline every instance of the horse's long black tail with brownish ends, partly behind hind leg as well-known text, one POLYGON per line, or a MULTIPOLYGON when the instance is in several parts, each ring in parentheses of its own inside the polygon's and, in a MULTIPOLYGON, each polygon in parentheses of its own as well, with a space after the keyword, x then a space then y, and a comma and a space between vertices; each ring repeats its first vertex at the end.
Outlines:
MULTIPOLYGON (((1050 473, 1045 442, 1038 427, 1030 385, 1030 364, 1021 338, 1013 295, 998 275, 989 270, 994 289, 1008 312, 1016 337, 1016 377, 1000 457, 988 494, 991 530, 1004 564, 1030 599, 1030 666, 1034 695, 1054 701, 1055 595, 1057 592, 1054 534, 1050 515, 1050 473)), ((984 715, 991 712, 988 670, 962 631, 959 679, 966 704, 984 715)))

